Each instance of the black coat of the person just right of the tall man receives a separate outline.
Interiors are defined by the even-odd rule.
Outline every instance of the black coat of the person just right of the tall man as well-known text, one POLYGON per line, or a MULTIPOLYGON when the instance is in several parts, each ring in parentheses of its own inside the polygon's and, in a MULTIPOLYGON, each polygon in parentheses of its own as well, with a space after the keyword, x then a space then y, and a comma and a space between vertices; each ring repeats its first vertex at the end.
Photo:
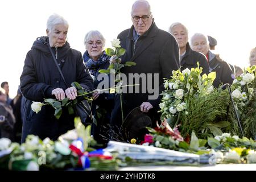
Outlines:
POLYGON ((199 67, 203 68, 202 74, 209 74, 209 64, 207 58, 200 52, 193 51, 189 46, 189 43, 186 45, 186 52, 183 58, 180 60, 181 71, 188 68, 197 68, 197 62, 199 62, 199 67))

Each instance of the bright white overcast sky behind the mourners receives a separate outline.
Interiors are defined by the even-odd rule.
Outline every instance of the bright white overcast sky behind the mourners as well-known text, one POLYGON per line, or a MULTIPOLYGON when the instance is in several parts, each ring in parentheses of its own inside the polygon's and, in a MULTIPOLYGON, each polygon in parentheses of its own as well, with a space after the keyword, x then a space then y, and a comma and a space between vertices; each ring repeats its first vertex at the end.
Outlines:
MULTIPOLYGON (((99 30, 106 47, 119 32, 130 28, 131 5, 125 0, 8 0, 0 1, 0 82, 8 81, 10 96, 19 85, 24 59, 34 40, 46 35, 48 17, 57 13, 69 22, 68 42, 82 53, 84 36, 99 30)), ((250 49, 256 47, 255 0, 149 0, 156 25, 168 30, 181 22, 189 30, 217 39, 216 53, 230 64, 247 67, 250 49)))

